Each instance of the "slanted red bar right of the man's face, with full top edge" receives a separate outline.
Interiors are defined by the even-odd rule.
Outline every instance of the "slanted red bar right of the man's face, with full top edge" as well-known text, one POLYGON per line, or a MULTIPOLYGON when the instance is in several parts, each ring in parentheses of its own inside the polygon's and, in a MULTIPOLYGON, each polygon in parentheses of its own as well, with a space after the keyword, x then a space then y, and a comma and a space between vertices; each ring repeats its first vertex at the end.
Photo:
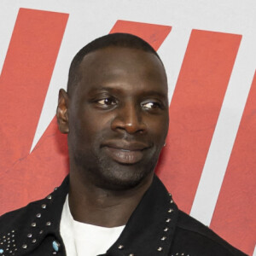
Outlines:
POLYGON ((177 205, 190 212, 241 36, 193 30, 170 105, 158 171, 177 205))

